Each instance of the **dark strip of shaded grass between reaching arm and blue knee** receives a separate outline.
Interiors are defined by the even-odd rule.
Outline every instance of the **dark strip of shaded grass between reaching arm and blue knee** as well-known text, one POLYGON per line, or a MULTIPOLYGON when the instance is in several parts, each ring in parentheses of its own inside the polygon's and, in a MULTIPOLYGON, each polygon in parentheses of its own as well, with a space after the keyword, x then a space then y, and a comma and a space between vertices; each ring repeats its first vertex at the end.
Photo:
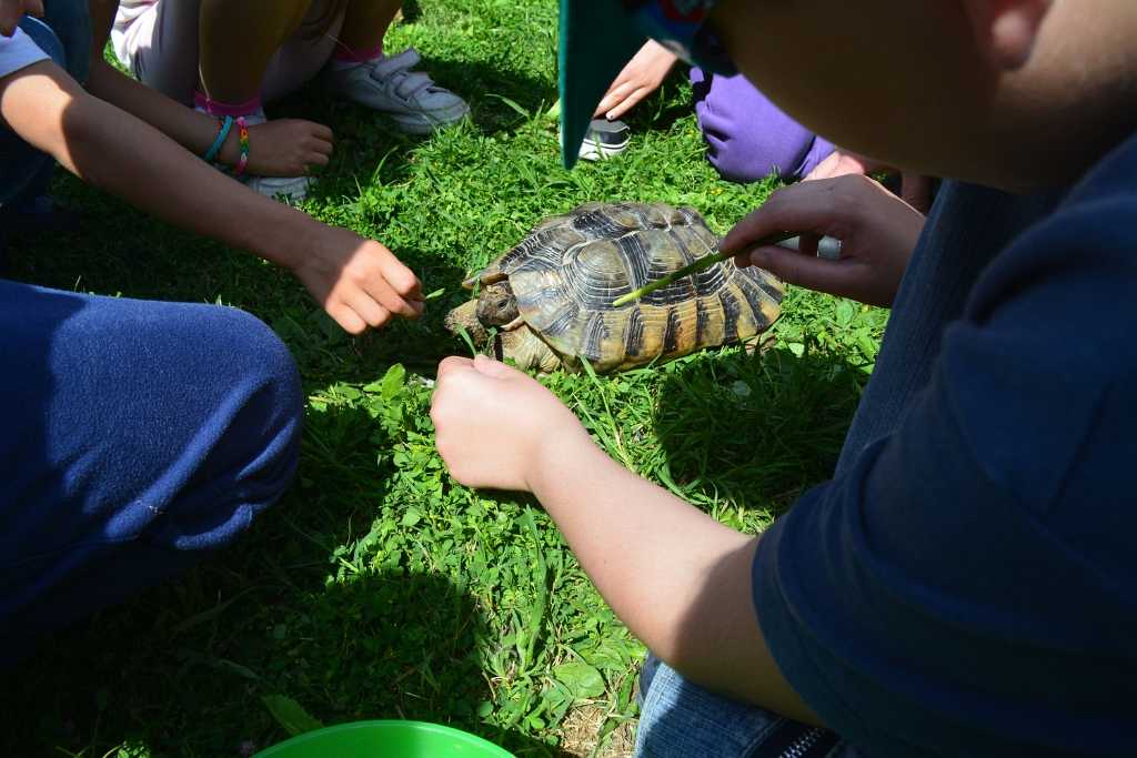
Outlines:
POLYGON ((395 319, 356 338, 324 314, 287 269, 148 218, 69 176, 57 182, 56 193, 82 209, 82 230, 14 238, 10 266, 0 275, 64 291, 242 308, 284 340, 307 384, 370 382, 396 361, 433 374, 442 357, 463 350, 442 319, 470 297, 462 289, 467 272, 438 256, 395 249, 422 281, 424 294, 443 293, 428 302, 423 318, 395 319))

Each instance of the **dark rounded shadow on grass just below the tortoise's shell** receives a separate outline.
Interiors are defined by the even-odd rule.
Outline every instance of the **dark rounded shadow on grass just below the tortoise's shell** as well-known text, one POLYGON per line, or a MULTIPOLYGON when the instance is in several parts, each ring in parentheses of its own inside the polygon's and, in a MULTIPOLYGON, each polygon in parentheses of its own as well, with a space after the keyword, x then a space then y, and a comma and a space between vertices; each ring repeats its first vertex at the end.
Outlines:
POLYGON ((686 364, 664 381, 656 416, 670 475, 780 510, 832 475, 865 381, 836 356, 781 349, 686 364))

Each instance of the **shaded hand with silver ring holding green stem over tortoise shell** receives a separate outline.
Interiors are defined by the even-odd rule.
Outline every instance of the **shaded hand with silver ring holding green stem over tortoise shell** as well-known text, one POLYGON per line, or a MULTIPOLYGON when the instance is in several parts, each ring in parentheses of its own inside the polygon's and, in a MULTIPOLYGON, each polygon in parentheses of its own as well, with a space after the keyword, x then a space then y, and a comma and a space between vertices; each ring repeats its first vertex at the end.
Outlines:
POLYGON ((888 306, 923 224, 920 211, 878 182, 847 175, 774 192, 727 234, 721 249, 738 253, 739 266, 761 266, 791 284, 888 306), (800 251, 747 250, 756 240, 783 231, 803 235, 800 251), (823 235, 841 241, 839 260, 816 257, 816 242, 823 235))

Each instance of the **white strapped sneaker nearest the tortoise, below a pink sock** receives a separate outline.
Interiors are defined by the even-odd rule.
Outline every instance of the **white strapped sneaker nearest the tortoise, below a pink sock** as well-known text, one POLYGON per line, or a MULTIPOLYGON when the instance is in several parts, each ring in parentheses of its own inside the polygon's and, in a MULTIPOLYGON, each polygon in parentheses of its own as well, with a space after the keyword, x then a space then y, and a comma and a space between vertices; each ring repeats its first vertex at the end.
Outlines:
POLYGON ((332 92, 388 114, 408 134, 430 134, 465 118, 470 106, 454 92, 410 68, 422 61, 414 48, 393 58, 382 56, 365 64, 324 69, 324 85, 332 92))

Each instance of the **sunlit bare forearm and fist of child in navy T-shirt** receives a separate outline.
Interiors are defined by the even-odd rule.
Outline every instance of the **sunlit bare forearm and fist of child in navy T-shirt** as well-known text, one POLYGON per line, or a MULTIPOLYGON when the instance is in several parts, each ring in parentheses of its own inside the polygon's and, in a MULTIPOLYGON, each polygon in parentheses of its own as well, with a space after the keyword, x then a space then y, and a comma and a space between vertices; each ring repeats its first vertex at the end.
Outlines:
POLYGON ((755 538, 625 470, 551 393, 504 364, 447 358, 431 418, 454 477, 536 494, 604 599, 669 665, 818 723, 763 640, 750 586, 755 538))

